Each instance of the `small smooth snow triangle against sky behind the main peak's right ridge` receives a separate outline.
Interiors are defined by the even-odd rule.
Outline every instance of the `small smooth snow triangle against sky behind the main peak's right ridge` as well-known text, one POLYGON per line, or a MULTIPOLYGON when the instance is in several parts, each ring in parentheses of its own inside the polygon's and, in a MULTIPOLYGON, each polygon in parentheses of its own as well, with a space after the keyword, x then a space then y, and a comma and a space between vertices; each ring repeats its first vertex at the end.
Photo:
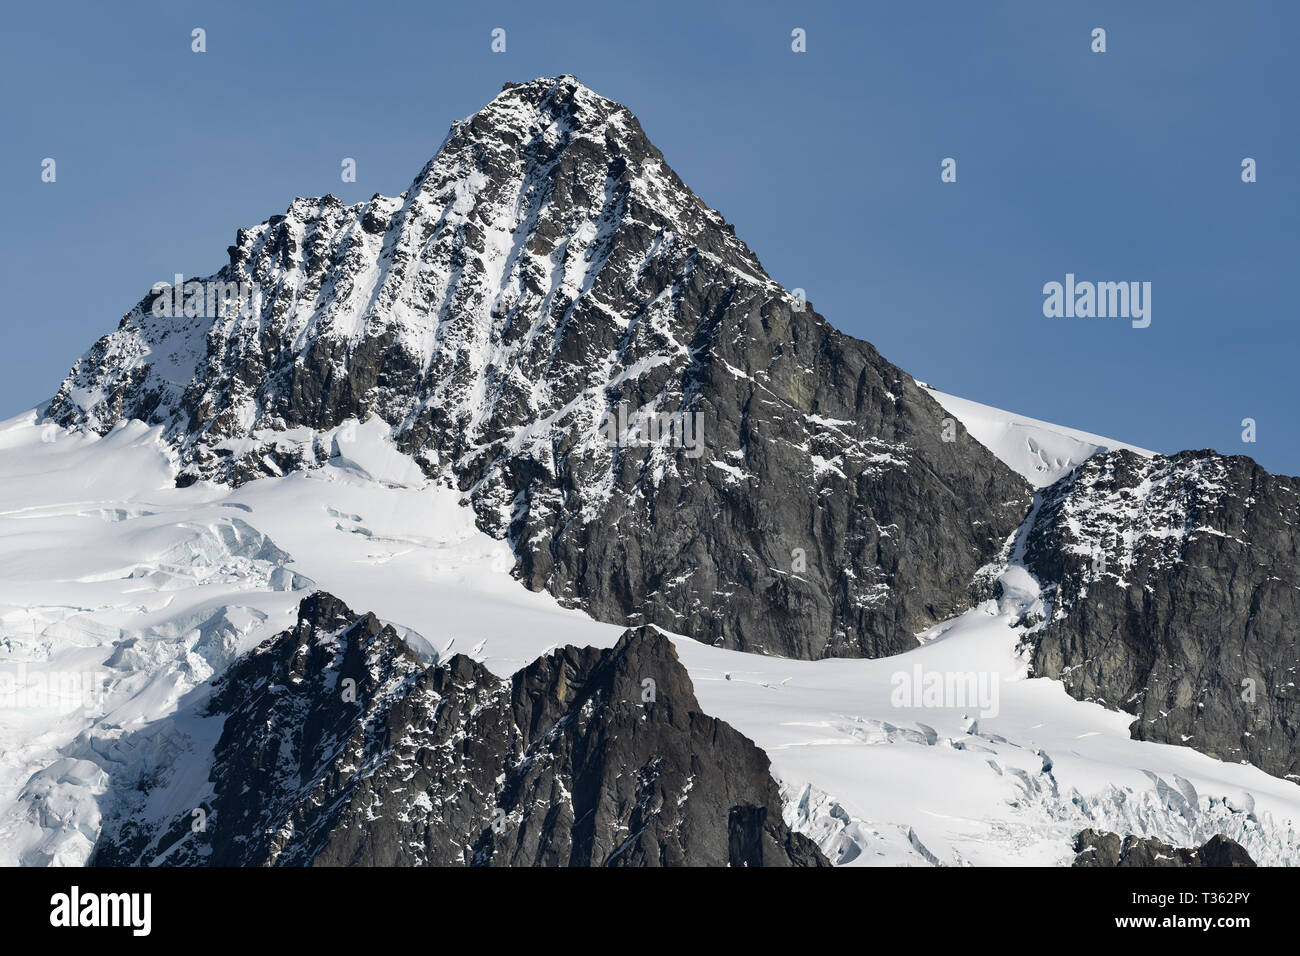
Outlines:
POLYGON ((1150 458, 1154 453, 1100 434, 1062 428, 916 382, 966 427, 975 441, 1002 459, 1035 488, 1046 488, 1098 451, 1128 449, 1150 458))

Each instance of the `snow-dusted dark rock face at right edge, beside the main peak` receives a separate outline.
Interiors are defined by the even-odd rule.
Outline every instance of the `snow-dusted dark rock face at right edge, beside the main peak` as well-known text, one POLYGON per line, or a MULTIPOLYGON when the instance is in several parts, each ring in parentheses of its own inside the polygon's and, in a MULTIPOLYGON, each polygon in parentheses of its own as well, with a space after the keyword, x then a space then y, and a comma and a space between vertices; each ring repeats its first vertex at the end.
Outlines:
POLYGON ((1045 489, 1034 670, 1132 735, 1300 779, 1300 479, 1249 458, 1098 455, 1045 489))

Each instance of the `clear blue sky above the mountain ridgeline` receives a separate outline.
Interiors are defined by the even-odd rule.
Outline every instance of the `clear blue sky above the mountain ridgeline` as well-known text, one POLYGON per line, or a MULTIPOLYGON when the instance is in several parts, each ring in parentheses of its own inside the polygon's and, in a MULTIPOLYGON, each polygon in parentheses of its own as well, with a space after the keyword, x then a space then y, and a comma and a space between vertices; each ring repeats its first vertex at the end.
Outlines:
POLYGON ((503 82, 573 73, 637 113, 774 278, 918 378, 1300 475, 1291 0, 53 1, 3 17, 3 415, 53 394, 153 282, 220 268, 239 226, 296 195, 400 193, 503 82), (1152 282, 1150 326, 1044 317, 1043 285, 1067 272, 1152 282))

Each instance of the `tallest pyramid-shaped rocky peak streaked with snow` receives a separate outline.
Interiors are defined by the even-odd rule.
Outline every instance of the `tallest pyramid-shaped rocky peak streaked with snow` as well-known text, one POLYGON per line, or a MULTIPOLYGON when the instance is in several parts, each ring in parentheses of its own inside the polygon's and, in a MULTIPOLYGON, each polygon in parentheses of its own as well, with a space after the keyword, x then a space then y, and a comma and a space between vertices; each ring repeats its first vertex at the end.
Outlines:
POLYGON ((572 77, 508 87, 400 196, 299 199, 229 252, 214 278, 260 298, 159 317, 151 293, 49 416, 162 425, 181 483, 311 467, 378 416, 528 587, 801 658, 914 646, 1028 510, 572 77))

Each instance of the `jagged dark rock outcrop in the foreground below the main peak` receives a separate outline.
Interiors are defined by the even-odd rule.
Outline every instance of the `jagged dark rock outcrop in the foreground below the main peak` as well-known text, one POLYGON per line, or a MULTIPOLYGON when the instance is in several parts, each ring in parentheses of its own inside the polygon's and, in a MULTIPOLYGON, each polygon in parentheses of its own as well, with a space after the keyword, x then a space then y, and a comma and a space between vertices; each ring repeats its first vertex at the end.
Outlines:
POLYGON ((127 809, 95 865, 828 865, 650 627, 500 680, 460 654, 424 667, 317 593, 208 710, 225 723, 205 826, 127 809))

